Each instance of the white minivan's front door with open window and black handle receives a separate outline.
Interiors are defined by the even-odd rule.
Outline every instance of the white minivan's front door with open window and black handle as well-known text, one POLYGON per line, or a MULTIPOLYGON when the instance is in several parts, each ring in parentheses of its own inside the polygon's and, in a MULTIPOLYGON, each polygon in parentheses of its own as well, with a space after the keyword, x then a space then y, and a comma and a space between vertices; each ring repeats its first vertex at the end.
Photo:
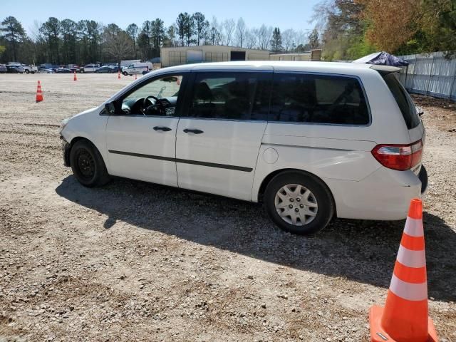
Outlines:
POLYGON ((157 76, 119 100, 121 113, 110 115, 106 125, 110 174, 177 186, 175 138, 183 77, 157 76))

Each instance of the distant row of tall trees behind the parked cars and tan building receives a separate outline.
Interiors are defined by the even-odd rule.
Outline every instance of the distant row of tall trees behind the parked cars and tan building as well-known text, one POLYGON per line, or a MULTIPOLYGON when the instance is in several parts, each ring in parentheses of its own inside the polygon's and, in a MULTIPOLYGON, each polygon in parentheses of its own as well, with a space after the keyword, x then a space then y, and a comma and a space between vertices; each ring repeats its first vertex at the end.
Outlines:
POLYGON ((97 61, 118 63, 122 59, 150 61, 160 56, 161 47, 227 45, 274 52, 304 52, 318 48, 318 31, 296 31, 261 25, 249 28, 244 19, 218 21, 204 14, 180 13, 175 23, 162 19, 120 28, 93 20, 73 21, 50 17, 36 24, 31 33, 14 16, 0 25, 0 61, 21 63, 86 64, 97 61))

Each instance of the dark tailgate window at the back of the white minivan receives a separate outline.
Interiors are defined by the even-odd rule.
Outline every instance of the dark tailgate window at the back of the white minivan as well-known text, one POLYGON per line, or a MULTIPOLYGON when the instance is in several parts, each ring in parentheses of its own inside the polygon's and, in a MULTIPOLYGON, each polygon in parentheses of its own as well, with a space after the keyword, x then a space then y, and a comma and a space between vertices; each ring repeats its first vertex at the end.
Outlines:
POLYGON ((382 76, 386 85, 390 88, 396 103, 398 103, 407 128, 411 130, 412 128, 417 127, 420 124, 420 117, 416 112, 415 104, 413 103, 412 98, 410 98, 410 95, 408 95, 407 90, 400 84, 394 73, 388 73, 382 76))

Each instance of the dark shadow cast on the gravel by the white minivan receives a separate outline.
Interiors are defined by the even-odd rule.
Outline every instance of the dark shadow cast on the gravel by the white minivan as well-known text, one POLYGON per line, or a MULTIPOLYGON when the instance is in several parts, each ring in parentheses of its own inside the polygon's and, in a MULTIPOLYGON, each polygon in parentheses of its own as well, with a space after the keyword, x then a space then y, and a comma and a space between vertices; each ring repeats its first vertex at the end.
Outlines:
MULTIPOLYGON (((282 232, 259 204, 199 195, 133 180, 115 179, 88 189, 73 176, 56 189, 61 197, 117 220, 198 244, 375 286, 388 287, 404 221, 336 219, 315 237, 282 232)), ((456 300, 456 233, 425 212, 429 296, 456 300)))

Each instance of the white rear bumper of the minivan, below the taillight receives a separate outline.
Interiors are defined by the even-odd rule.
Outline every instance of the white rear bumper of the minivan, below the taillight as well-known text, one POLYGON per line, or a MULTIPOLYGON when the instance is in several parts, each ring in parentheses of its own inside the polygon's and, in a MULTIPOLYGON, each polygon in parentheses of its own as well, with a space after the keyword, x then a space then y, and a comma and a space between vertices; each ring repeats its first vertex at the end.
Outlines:
POLYGON ((410 200, 423 198, 427 190, 425 167, 418 176, 380 167, 359 182, 324 181, 333 193, 337 217, 345 219, 405 219, 410 200))

